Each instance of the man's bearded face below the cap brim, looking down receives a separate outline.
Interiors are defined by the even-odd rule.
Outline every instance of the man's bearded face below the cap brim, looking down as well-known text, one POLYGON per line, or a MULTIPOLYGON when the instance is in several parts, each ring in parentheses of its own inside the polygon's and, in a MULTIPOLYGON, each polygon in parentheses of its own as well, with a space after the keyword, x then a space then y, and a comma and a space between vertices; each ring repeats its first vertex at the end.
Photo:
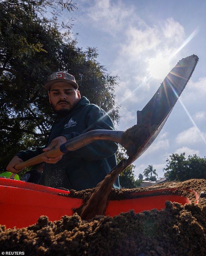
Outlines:
POLYGON ((49 90, 49 102, 54 111, 60 115, 70 113, 80 98, 80 92, 66 82, 54 83, 49 90))

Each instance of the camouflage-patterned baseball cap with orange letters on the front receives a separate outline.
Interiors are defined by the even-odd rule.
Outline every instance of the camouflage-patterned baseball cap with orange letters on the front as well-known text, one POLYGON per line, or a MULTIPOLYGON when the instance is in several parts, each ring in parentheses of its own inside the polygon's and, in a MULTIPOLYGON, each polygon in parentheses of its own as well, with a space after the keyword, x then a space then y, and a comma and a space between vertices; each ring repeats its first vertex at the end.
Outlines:
POLYGON ((45 83, 45 89, 49 90, 51 85, 53 83, 56 82, 66 82, 66 83, 70 83, 72 84, 76 89, 78 89, 78 84, 75 81, 74 76, 66 73, 66 72, 62 72, 62 71, 58 71, 55 72, 53 74, 51 74, 48 78, 47 78, 47 83, 45 83))

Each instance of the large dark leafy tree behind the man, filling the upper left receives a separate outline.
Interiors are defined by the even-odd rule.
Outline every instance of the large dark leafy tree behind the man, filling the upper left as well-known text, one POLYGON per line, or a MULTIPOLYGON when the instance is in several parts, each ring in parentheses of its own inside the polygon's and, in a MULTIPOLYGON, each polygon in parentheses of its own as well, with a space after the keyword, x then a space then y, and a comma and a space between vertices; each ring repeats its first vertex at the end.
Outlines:
POLYGON ((97 49, 82 50, 71 39, 72 24, 58 23, 72 1, 0 2, 0 167, 19 150, 44 145, 53 123, 44 89, 46 78, 62 70, 73 74, 81 93, 119 121, 114 88, 117 77, 97 61, 97 49), (52 18, 45 17, 49 9, 52 18), (112 109, 112 111, 110 111, 112 109))

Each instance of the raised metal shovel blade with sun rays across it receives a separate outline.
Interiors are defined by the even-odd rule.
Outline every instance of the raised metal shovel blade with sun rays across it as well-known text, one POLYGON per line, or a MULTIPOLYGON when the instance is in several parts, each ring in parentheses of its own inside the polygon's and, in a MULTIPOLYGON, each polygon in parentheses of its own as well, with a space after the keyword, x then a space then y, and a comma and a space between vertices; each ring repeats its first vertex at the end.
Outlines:
POLYGON ((180 60, 163 80, 148 104, 141 111, 137 111, 137 124, 153 126, 154 131, 137 150, 131 162, 142 155, 160 133, 175 103, 185 89, 198 60, 198 56, 194 54, 180 60))

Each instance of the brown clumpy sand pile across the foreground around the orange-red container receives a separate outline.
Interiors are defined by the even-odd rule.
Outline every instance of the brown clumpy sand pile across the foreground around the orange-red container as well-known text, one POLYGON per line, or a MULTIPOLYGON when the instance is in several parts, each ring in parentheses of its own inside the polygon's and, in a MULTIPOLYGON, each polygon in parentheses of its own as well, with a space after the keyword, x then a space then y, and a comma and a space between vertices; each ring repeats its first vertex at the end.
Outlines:
MULTIPOLYGON (((200 194, 206 192, 206 180, 112 190, 110 199, 163 188, 186 188, 200 194)), ((81 197, 85 193, 73 191, 71 194, 81 197)), ((161 211, 153 209, 135 214, 131 210, 115 217, 96 216, 89 221, 81 220, 77 213, 54 222, 41 216, 36 224, 27 228, 5 229, 1 226, 0 248, 2 251, 23 251, 29 256, 203 256, 206 255, 206 197, 199 198, 198 204, 192 197, 191 202, 182 206, 166 201, 166 207, 161 211)))

